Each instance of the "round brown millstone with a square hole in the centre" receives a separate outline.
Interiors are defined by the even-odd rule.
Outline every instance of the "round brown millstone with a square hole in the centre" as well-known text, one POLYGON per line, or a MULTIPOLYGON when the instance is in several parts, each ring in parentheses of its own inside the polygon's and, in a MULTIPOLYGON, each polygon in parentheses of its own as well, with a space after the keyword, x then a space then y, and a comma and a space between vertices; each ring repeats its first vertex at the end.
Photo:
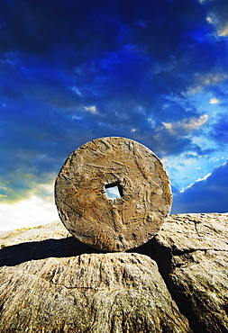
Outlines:
POLYGON ((152 238, 169 215, 169 176, 149 148, 107 137, 79 147, 55 184, 59 217, 68 231, 102 251, 125 251, 152 238), (109 192, 119 192, 110 199, 109 192))

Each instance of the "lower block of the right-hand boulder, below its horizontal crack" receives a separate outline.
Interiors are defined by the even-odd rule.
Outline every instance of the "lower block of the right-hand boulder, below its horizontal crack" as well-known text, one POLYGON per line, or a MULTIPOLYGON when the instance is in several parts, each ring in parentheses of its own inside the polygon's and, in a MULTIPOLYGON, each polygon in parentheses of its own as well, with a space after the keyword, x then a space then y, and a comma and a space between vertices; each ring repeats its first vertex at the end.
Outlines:
POLYGON ((228 332, 228 252, 194 251, 172 265, 170 279, 205 332, 228 332))

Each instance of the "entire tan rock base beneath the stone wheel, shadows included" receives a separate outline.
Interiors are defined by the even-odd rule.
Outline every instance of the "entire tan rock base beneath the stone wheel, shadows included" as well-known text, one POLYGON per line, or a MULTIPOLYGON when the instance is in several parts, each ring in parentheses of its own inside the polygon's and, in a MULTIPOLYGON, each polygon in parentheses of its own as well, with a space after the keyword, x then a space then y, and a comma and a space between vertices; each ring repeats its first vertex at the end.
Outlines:
POLYGON ((171 215, 133 253, 59 221, 1 233, 1 332, 227 332, 228 214, 171 215))

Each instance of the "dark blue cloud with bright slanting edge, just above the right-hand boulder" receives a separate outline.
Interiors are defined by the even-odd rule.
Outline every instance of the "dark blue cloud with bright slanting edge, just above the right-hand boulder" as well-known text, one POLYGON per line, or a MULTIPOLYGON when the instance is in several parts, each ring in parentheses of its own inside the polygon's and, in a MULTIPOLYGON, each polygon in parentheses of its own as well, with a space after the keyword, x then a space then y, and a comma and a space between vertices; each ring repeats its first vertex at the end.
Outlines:
POLYGON ((227 212, 228 162, 196 180, 182 193, 175 193, 172 213, 227 212))

